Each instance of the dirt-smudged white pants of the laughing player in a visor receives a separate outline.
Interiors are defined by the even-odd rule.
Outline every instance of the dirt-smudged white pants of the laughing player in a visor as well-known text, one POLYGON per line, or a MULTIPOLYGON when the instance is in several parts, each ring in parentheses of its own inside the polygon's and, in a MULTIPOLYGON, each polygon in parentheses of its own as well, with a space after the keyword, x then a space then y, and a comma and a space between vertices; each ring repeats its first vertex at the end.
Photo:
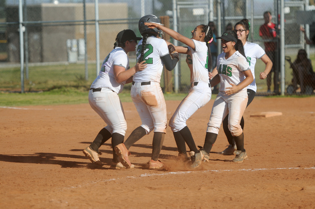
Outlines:
POLYGON ((221 123, 228 114, 228 129, 232 136, 241 135, 243 130, 240 122, 246 109, 247 101, 246 89, 229 96, 224 91, 220 91, 212 107, 207 132, 218 134, 221 123))

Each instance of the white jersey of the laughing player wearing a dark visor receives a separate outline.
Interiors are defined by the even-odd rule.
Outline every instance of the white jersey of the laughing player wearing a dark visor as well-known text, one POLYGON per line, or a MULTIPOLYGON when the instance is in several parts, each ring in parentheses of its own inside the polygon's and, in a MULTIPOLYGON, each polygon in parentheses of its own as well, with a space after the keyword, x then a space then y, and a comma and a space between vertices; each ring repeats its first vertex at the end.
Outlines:
MULTIPOLYGON (((246 58, 238 51, 227 60, 225 60, 225 53, 223 52, 218 56, 217 69, 220 76, 219 90, 225 91, 227 87, 231 87, 230 83, 238 85, 244 81, 243 71, 250 70, 250 65, 246 58)), ((243 90, 247 90, 247 88, 243 90)))

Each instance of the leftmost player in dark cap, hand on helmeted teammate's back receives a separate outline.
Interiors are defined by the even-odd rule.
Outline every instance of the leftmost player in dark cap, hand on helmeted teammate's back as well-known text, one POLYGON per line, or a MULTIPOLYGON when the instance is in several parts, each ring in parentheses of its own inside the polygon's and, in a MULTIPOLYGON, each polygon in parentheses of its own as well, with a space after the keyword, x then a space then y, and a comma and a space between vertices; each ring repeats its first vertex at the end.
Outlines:
MULTIPOLYGON (((93 162, 102 165, 98 158, 99 147, 112 138, 112 147, 122 143, 127 129, 124 109, 119 99, 126 83, 132 81, 132 75, 143 70, 146 64, 137 63, 129 69, 128 52, 135 51, 137 40, 132 30, 120 31, 116 37, 114 49, 102 63, 98 76, 89 91, 89 103, 92 109, 105 121, 106 127, 97 134, 94 142, 83 150, 83 153, 93 162)), ((112 169, 123 168, 113 149, 112 169)))

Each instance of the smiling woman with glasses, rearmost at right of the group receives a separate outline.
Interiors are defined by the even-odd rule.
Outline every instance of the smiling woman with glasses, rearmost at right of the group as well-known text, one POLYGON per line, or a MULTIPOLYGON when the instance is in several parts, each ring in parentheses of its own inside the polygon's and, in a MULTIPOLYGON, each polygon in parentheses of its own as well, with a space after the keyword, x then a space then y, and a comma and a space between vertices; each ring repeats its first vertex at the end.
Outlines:
MULTIPOLYGON (((272 61, 269 59, 269 57, 266 55, 265 51, 255 43, 251 43, 247 41, 248 35, 250 33, 250 23, 248 19, 243 19, 235 24, 234 31, 237 33, 237 38, 242 41, 244 46, 244 51, 246 55, 246 59, 250 65, 252 76, 254 78, 253 82, 247 87, 247 94, 248 94, 248 107, 252 100, 255 97, 257 86, 256 86, 256 80, 255 80, 255 64, 257 59, 261 59, 265 63, 265 70, 263 72, 260 72, 259 78, 265 79, 267 78, 268 73, 270 72, 272 68, 272 61)), ((221 154, 223 155, 232 155, 234 154, 234 150, 236 149, 235 142, 233 140, 233 136, 231 135, 231 132, 228 129, 228 115, 223 120, 223 130, 227 137, 227 141, 229 142, 229 145, 226 149, 224 149, 221 154)), ((241 127, 244 130, 244 118, 241 119, 241 127)))

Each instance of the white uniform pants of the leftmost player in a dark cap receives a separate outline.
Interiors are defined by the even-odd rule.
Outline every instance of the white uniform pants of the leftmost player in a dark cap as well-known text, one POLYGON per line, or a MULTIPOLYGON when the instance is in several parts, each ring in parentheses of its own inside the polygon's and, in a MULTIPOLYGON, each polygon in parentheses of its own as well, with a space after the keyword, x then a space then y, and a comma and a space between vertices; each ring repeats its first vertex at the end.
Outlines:
POLYGON ((106 122, 105 127, 111 134, 126 134, 127 122, 123 105, 118 94, 108 88, 101 91, 89 91, 89 103, 92 109, 106 122))

